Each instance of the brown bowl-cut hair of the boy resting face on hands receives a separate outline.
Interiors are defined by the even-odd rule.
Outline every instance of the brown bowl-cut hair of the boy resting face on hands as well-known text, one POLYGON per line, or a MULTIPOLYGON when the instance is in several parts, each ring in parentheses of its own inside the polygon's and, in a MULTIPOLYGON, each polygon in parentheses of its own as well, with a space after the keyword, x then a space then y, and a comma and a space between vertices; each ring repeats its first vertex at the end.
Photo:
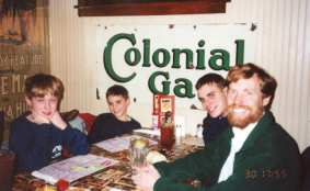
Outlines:
POLYGON ((60 79, 47 74, 36 74, 25 80, 25 94, 28 99, 33 97, 45 97, 50 93, 59 101, 64 97, 64 85, 60 79))

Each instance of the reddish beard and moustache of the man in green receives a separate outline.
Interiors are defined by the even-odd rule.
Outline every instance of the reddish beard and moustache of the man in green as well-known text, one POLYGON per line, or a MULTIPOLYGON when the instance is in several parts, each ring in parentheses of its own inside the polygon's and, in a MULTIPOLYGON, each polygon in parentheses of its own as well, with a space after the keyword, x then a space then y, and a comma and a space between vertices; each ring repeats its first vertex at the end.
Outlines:
POLYGON ((259 119, 262 116, 263 114, 263 108, 251 108, 251 106, 244 106, 244 105, 229 105, 228 106, 228 122, 231 126, 236 126, 236 127, 240 127, 240 128, 244 128, 245 126, 248 126, 251 123, 254 123, 256 121, 259 121, 259 119), (250 114, 240 116, 240 114, 236 114, 233 112, 233 110, 236 109, 244 109, 248 110, 248 112, 250 112, 250 114))

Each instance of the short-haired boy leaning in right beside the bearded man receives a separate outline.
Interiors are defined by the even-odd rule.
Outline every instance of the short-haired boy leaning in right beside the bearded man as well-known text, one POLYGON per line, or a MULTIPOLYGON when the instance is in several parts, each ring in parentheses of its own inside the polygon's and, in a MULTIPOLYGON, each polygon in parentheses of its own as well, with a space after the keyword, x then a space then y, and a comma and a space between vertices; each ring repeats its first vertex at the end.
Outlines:
POLYGON ((207 116, 203 122, 203 137, 205 145, 229 127, 227 121, 226 80, 218 74, 207 74, 196 82, 198 100, 207 116))

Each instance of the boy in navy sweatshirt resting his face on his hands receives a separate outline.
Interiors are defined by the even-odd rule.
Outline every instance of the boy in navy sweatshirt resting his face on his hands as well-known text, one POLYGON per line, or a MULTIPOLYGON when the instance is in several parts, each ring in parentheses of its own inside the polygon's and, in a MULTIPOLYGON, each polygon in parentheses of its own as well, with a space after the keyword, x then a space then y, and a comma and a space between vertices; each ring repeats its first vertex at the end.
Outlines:
POLYGON ((37 170, 61 156, 66 147, 72 155, 88 153, 83 133, 72 128, 59 114, 62 82, 37 74, 25 80, 25 101, 30 112, 13 121, 9 147, 16 155, 18 171, 37 170))

